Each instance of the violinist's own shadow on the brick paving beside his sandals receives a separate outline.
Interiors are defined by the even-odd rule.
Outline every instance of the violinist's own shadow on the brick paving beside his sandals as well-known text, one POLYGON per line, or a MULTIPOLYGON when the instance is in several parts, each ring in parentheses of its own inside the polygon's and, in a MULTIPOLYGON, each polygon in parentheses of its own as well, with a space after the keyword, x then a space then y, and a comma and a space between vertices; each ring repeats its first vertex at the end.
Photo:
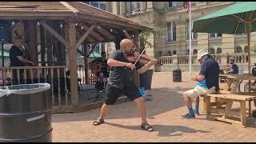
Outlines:
MULTIPOLYGON (((119 128, 130 129, 130 130, 142 130, 140 126, 122 126, 116 123, 105 122, 110 126, 116 126, 119 128)), ((154 131, 158 132, 158 136, 166 137, 166 136, 181 136, 182 134, 173 134, 176 132, 182 133, 210 133, 211 131, 205 130, 194 130, 186 126, 164 126, 164 125, 152 125, 154 131)))

